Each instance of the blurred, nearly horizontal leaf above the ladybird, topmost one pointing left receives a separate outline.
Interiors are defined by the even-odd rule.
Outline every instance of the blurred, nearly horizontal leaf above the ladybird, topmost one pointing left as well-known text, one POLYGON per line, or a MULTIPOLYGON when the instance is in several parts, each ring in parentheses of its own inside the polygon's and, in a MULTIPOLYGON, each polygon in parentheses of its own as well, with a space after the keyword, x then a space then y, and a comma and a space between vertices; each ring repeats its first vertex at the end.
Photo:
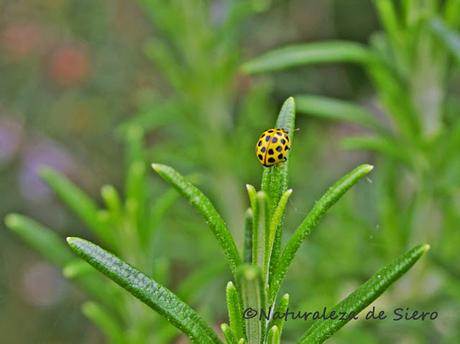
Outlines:
POLYGON ((371 59, 371 52, 359 43, 327 41, 278 48, 246 62, 242 68, 245 72, 254 74, 308 64, 342 62, 366 64, 371 59))

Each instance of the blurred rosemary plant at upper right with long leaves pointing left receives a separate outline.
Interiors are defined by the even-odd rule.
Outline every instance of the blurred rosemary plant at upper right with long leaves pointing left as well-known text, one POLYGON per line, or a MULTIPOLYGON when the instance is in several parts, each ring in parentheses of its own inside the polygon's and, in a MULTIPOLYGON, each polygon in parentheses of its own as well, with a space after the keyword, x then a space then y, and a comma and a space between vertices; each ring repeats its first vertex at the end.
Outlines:
MULTIPOLYGON (((374 4, 384 32, 374 34, 368 47, 360 47, 368 58, 350 61, 342 53, 342 46, 334 47, 336 42, 319 42, 276 49, 245 66, 250 66, 246 70, 254 73, 330 62, 362 65, 374 85, 386 121, 376 118, 360 105, 317 95, 297 96, 298 109, 308 115, 342 120, 370 129, 371 135, 346 138, 343 146, 375 151, 386 159, 387 164, 402 167, 402 171, 408 169, 416 186, 409 190, 408 200, 395 199, 395 202, 399 203, 398 209, 416 212, 416 207, 411 205, 417 204, 419 198, 437 198, 439 194, 451 197, 443 186, 444 178, 456 172, 441 163, 439 157, 443 156, 450 166, 458 165, 458 154, 453 154, 451 149, 460 147, 455 129, 459 121, 458 116, 450 114, 452 98, 448 81, 458 62, 459 24, 455 18, 459 17, 459 5, 456 0, 445 4, 407 1, 401 8, 389 0, 375 0, 374 4), (323 53, 324 46, 330 47, 329 55, 334 56, 333 59, 323 53), (320 58, 290 60, 289 52, 320 58)), ((353 42, 342 44, 356 45, 353 42)), ((394 186, 402 187, 398 183, 394 186)), ((386 189, 384 192, 395 193, 395 190, 386 189)), ((414 228, 400 230, 415 231, 414 228)))

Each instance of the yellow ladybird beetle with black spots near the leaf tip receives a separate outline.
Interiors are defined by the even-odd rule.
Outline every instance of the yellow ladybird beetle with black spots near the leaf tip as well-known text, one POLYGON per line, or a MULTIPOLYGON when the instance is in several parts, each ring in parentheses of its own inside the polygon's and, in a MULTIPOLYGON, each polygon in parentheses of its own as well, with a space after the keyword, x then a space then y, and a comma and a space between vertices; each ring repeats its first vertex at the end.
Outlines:
POLYGON ((287 130, 273 128, 265 130, 256 144, 256 154, 259 162, 265 167, 279 165, 287 160, 291 148, 287 130))

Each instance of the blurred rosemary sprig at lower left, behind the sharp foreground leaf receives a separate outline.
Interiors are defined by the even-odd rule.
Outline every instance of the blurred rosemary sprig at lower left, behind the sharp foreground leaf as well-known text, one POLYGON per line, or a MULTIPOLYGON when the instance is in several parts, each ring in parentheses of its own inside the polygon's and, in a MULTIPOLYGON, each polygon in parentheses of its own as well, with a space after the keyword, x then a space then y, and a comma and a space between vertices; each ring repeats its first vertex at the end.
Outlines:
MULTIPOLYGON (((147 181, 144 135, 139 127, 127 131, 127 176, 122 197, 112 185, 101 189, 104 207, 100 209, 79 187, 58 171, 43 168, 42 179, 62 202, 91 230, 108 249, 136 265, 163 284, 170 282, 169 261, 155 254, 157 230, 164 215, 178 198, 170 189, 156 195, 147 181)), ((169 343, 178 331, 150 312, 116 284, 101 278, 84 260, 72 253, 53 230, 20 214, 6 217, 6 225, 21 239, 62 269, 91 299, 83 304, 83 313, 114 344, 169 343), (152 331, 154 329, 154 331, 152 331)), ((183 279, 179 294, 192 301, 196 292, 222 271, 221 264, 209 264, 183 279)))

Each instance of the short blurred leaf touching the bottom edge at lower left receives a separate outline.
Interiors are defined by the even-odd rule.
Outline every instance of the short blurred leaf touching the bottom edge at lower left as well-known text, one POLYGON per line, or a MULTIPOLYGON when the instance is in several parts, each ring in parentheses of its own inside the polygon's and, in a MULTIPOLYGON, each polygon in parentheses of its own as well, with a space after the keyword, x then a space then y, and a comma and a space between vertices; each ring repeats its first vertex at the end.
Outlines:
POLYGON ((112 344, 125 343, 123 330, 120 324, 110 313, 95 302, 85 302, 82 306, 83 314, 86 315, 104 333, 112 344))

